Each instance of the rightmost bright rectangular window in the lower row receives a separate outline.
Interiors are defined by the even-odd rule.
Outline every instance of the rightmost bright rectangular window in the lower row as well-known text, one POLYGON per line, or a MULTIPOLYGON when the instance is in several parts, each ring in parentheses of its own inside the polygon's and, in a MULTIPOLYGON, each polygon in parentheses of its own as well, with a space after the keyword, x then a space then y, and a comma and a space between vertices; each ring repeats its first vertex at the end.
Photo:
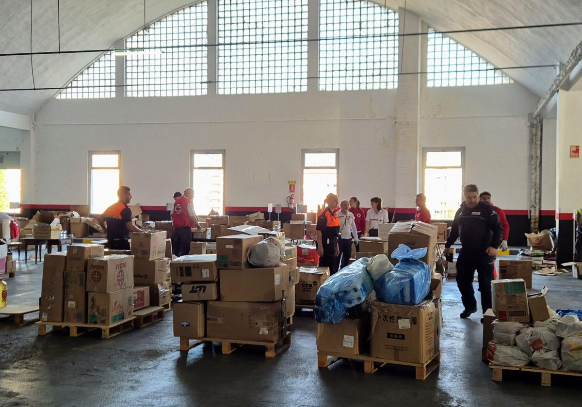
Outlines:
POLYGON ((423 156, 423 192, 431 218, 453 219, 463 200, 464 148, 424 148, 423 156))

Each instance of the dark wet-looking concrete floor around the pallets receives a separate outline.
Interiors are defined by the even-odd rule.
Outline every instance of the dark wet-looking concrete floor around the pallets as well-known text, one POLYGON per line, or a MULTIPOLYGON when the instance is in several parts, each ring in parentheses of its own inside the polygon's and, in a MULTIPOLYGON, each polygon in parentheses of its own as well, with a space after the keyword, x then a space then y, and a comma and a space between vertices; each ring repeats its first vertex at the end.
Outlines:
MULTIPOLYGON (((35 304, 42 265, 19 263, 8 280, 9 302, 35 304)), ((542 277, 533 286, 549 287, 553 308, 582 308, 582 280, 569 274, 542 277)), ((476 283, 475 283, 476 290, 476 283)), ((479 299, 477 298, 477 302, 479 299)), ((385 366, 365 374, 363 364, 342 360, 317 367, 315 321, 296 313, 292 345, 275 359, 260 348, 222 355, 218 345, 188 354, 172 336, 172 313, 158 324, 109 340, 61 333, 38 337, 36 326, 15 327, 0 320, 1 406, 532 406, 576 405, 582 377, 553 377, 540 386, 539 374, 510 372, 491 381, 481 362, 480 315, 459 319, 455 281, 443 287, 445 327, 441 366, 424 381, 406 367, 385 366), (513 374, 511 374, 513 373, 513 374)))

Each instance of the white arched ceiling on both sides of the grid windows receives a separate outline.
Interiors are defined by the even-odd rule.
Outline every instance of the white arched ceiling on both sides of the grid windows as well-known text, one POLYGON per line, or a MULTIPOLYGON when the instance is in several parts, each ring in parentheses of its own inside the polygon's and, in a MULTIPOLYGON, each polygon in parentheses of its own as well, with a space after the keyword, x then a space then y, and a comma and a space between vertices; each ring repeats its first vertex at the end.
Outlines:
MULTIPOLYGON (((147 21, 193 3, 146 0, 147 21)), ((374 0, 393 9, 404 0, 374 0)), ((33 0, 33 51, 57 50, 57 0, 33 0)), ((580 0, 406 0, 407 9, 437 30, 563 23, 582 20, 580 0)), ((143 25, 143 0, 61 0, 61 49, 109 48, 143 25)), ((582 40, 582 26, 450 35, 495 66, 565 62, 582 40)), ((0 52, 30 49, 30 1, 0 0, 0 52)), ((93 60, 95 53, 34 56, 37 87, 59 87, 93 60)), ((549 87, 551 68, 510 70, 535 94, 549 87)), ((0 57, 0 88, 31 87, 29 56, 0 57)), ((55 91, 0 92, 0 110, 30 114, 55 91)))

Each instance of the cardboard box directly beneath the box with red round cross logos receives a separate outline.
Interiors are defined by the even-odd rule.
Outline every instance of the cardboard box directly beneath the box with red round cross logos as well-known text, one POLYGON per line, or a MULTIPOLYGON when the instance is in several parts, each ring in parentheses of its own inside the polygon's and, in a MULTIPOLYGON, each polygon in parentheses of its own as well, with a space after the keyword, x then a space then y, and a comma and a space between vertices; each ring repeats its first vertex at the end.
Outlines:
POLYGON ((89 292, 88 324, 111 325, 133 315, 133 287, 112 292, 89 292))

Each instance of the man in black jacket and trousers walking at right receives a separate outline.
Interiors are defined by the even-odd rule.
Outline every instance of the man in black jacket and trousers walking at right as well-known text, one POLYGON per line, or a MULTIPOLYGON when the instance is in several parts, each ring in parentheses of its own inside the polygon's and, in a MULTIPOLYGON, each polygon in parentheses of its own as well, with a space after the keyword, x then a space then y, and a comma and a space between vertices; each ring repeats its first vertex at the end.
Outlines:
POLYGON ((460 237, 463 249, 457 259, 457 287, 465 307, 461 317, 468 318, 477 312, 477 301, 473 291, 475 270, 479 276, 483 313, 491 308, 491 280, 503 227, 495 209, 480 202, 477 185, 465 185, 463 196, 464 202, 457 210, 443 254, 448 255, 451 245, 455 243, 457 237, 460 237))

